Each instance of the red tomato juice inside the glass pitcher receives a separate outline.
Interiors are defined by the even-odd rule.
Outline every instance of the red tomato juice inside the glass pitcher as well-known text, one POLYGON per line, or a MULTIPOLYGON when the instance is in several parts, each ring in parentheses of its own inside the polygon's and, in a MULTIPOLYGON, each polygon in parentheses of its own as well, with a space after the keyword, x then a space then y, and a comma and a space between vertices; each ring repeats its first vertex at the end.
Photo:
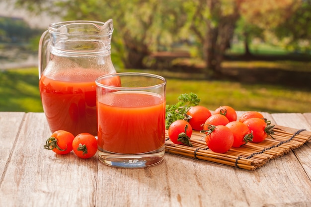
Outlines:
POLYGON ((61 73, 53 78, 41 76, 41 100, 52 132, 66 130, 75 136, 86 132, 97 134, 96 77, 87 80, 77 75, 76 79, 69 81, 61 73))

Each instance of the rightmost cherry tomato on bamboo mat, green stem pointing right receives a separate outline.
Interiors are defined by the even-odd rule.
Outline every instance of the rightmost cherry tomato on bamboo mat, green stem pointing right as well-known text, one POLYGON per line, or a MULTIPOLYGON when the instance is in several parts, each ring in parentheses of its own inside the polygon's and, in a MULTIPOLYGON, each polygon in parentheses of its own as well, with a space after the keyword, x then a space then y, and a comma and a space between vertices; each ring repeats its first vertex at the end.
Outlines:
MULTIPOLYGON (((249 118, 246 119, 243 124, 245 124, 248 129, 253 132, 252 142, 261 142, 267 138, 268 135, 273 135, 272 131, 273 125, 267 125, 267 123, 260 118, 249 118)), ((271 136, 272 137, 272 136, 271 136)), ((273 138, 273 137, 272 137, 273 138)))

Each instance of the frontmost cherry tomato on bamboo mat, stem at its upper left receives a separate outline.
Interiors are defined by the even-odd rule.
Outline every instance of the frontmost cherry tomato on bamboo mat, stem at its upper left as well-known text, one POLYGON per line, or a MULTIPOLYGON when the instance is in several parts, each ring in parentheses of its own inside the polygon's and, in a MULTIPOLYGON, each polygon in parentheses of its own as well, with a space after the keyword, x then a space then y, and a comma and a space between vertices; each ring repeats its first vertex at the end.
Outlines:
POLYGON ((233 132, 223 125, 211 125, 205 137, 207 146, 217 153, 227 152, 232 147, 233 140, 233 132))

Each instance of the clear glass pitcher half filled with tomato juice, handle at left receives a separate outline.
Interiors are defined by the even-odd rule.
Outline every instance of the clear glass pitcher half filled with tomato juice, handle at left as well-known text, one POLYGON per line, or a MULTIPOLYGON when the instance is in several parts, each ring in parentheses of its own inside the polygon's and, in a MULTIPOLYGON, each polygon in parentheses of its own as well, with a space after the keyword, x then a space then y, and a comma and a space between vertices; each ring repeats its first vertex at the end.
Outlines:
POLYGON ((52 23, 39 43, 39 90, 51 132, 97 135, 95 79, 115 73, 112 19, 52 23))

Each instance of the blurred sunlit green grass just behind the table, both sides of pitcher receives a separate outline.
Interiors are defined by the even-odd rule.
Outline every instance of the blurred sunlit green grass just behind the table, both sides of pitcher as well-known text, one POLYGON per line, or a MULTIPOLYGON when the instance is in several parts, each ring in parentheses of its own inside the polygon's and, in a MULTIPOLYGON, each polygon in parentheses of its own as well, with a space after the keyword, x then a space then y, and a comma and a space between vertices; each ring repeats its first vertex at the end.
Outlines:
MULTIPOLYGON (((204 80, 201 74, 154 70, 119 69, 118 72, 149 72, 167 79, 167 104, 175 104, 182 93, 193 92, 200 105, 215 110, 230 105, 239 111, 270 113, 311 112, 311 91, 270 84, 244 84, 204 80)), ((0 71, 0 111, 42 112, 37 68, 0 71)))

